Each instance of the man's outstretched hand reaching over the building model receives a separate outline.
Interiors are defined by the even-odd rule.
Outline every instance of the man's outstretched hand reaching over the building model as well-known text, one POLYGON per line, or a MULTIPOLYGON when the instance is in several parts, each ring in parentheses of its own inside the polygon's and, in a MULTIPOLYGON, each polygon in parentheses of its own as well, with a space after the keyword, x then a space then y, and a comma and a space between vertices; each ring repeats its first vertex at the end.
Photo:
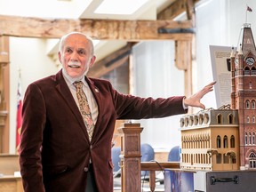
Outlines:
POLYGON ((204 104, 201 103, 200 100, 204 97, 204 95, 206 93, 212 92, 214 84, 216 84, 216 81, 212 82, 211 84, 207 84, 206 86, 204 86, 204 88, 201 91, 196 92, 195 94, 191 95, 188 98, 185 98, 184 99, 185 107, 188 108, 188 106, 190 106, 190 107, 204 108, 205 109, 204 104))

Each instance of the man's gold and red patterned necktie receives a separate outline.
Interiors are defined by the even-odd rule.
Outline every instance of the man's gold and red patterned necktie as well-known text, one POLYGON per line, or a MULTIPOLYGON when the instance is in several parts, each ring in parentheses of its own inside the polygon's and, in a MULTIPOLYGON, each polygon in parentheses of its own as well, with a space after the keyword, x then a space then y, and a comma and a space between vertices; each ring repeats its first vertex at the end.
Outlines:
POLYGON ((76 87, 76 97, 78 99, 81 115, 83 116, 83 119, 84 119, 84 124, 86 125, 86 128, 87 128, 89 140, 92 140, 94 124, 92 121, 92 114, 88 104, 88 100, 83 91, 83 82, 81 81, 75 82, 74 85, 76 87))

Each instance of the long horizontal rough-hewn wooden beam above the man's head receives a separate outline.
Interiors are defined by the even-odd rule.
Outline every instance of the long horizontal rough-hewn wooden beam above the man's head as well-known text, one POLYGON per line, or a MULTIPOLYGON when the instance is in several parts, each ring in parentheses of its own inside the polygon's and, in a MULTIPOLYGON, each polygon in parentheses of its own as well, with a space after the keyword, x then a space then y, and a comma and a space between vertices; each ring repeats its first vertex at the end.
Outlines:
POLYGON ((188 40, 189 32, 161 33, 161 28, 193 28, 189 20, 85 20, 43 19, 0 15, 0 36, 60 38, 72 31, 99 40, 188 40), (159 32, 160 31, 160 32, 159 32))

